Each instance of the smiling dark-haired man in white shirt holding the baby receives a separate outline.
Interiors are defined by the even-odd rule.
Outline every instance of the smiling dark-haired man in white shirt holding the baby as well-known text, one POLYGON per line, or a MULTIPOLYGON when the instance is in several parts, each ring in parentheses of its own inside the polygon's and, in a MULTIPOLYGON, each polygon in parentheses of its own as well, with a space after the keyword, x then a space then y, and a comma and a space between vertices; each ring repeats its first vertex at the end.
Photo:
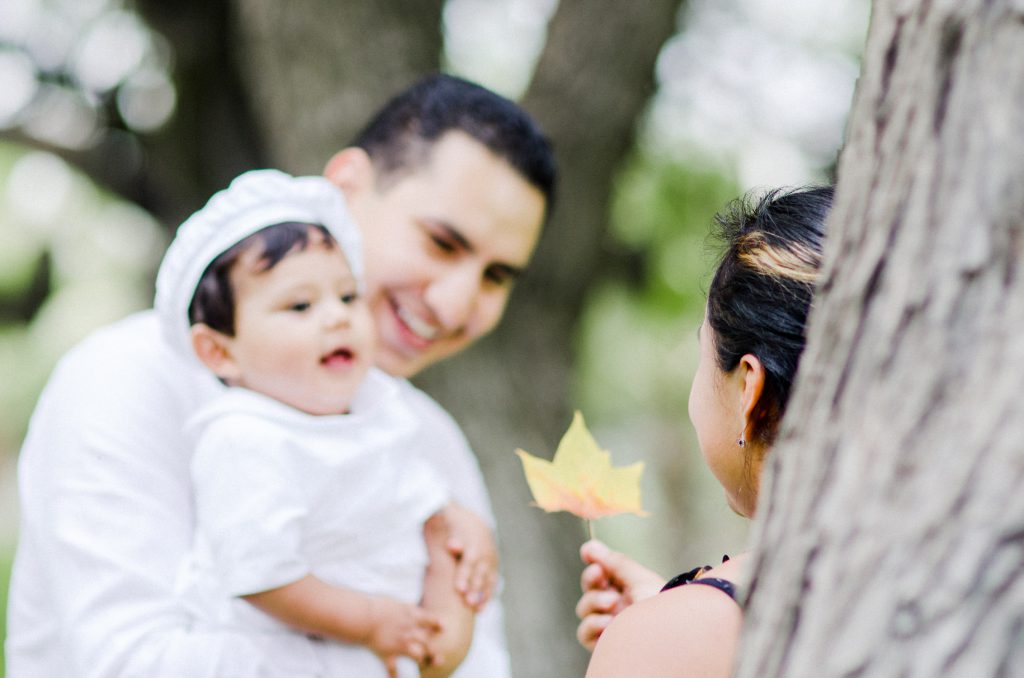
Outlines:
MULTIPOLYGON (((364 230, 378 364, 408 377, 497 325, 537 244, 555 169, 515 104, 435 76, 388 103, 325 174, 364 230)), ((54 370, 19 460, 10 675, 268 675, 258 646, 191 628, 174 595, 193 536, 182 429, 218 388, 168 347, 152 311, 99 330, 54 370)), ((456 501, 493 523, 458 427, 406 391, 456 501)), ((488 603, 457 675, 508 674, 501 624, 488 603)))

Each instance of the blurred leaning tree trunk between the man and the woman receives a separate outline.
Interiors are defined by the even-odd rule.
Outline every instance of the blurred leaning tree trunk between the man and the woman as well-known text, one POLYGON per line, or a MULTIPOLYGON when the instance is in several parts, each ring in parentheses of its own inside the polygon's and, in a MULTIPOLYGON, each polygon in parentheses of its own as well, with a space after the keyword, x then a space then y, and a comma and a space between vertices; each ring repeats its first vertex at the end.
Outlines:
MULTIPOLYGON (((654 89, 654 62, 680 0, 562 0, 523 105, 555 144, 557 207, 501 328, 422 383, 463 425, 498 514, 513 672, 583 675, 574 641, 582 521, 529 506, 517 447, 554 453, 571 415, 573 330, 608 255, 616 169, 654 89)), ((613 356, 610 359, 628 359, 613 356)))

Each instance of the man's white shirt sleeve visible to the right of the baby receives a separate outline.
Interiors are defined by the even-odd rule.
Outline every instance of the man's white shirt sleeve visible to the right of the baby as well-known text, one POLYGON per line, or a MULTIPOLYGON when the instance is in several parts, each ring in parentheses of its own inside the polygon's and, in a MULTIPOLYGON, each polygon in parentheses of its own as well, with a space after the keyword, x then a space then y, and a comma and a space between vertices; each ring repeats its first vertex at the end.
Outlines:
MULTIPOLYGON (((494 527, 495 516, 483 474, 462 429, 433 398, 408 381, 402 382, 402 390, 406 401, 416 411, 425 427, 420 439, 427 462, 449 480, 449 489, 456 502, 474 511, 494 527)), ((476 616, 469 654, 459 665, 453 678, 508 678, 511 674, 505 610, 499 593, 496 591, 495 597, 476 616)))

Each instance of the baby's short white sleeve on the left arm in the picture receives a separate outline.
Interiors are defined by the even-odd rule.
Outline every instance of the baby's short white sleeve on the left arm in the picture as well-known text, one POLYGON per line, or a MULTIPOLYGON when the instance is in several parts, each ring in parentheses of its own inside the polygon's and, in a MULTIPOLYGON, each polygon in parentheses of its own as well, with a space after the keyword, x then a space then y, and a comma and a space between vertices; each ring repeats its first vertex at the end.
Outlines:
POLYGON ((280 429, 222 416, 204 429, 191 462, 197 532, 229 596, 269 591, 309 574, 302 552, 307 485, 280 429))

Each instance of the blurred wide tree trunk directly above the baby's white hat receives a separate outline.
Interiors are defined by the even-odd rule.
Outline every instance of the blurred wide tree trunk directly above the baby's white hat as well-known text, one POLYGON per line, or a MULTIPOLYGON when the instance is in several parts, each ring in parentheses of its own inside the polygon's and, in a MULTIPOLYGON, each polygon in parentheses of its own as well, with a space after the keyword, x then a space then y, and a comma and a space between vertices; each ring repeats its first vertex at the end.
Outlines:
POLYGON ((442 0, 233 0, 236 53, 275 166, 319 174, 395 92, 437 71, 442 0))

